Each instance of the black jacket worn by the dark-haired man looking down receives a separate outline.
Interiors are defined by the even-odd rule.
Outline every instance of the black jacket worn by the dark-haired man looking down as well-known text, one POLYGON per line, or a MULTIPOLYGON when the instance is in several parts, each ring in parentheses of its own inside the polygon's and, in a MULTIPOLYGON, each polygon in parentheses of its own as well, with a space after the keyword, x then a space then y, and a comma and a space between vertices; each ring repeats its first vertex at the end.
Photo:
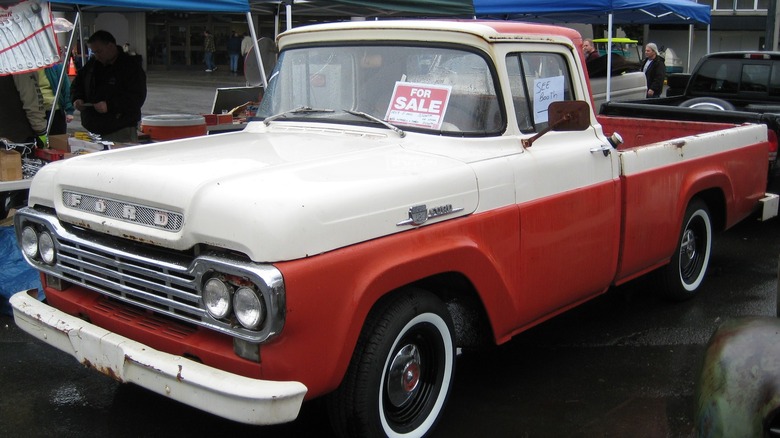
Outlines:
POLYGON ((71 101, 85 103, 106 101, 108 112, 94 108, 81 112, 81 125, 90 132, 110 134, 122 128, 138 126, 141 107, 146 101, 146 73, 141 57, 119 49, 113 64, 103 65, 94 58, 79 70, 71 87, 71 101))

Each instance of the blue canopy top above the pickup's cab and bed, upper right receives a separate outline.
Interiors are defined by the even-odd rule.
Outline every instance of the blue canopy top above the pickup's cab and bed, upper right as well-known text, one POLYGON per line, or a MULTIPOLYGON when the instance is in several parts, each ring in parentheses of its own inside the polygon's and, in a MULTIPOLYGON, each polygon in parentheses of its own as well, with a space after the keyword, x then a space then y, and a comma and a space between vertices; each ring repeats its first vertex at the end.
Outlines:
POLYGON ((558 23, 709 24, 710 6, 691 0, 474 0, 478 17, 558 23))

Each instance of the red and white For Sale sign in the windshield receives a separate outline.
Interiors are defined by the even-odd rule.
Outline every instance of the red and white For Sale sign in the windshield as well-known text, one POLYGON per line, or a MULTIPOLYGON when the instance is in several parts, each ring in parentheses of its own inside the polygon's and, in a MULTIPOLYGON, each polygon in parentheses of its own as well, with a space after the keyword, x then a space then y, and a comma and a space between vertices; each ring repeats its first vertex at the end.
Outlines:
POLYGON ((396 82, 385 120, 400 125, 441 129, 452 87, 396 82))

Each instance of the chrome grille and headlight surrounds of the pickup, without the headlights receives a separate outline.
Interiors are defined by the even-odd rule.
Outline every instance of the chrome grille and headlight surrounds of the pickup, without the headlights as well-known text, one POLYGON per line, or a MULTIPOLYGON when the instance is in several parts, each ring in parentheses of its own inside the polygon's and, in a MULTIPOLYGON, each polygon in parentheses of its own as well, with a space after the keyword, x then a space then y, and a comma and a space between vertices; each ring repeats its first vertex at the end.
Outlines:
POLYGON ((166 251, 64 225, 56 215, 29 207, 14 215, 14 225, 17 239, 27 226, 51 233, 56 248, 54 265, 27 255, 25 260, 42 272, 72 284, 252 343, 265 342, 284 327, 284 280, 271 265, 252 263, 225 253, 194 256, 166 251), (214 273, 248 279, 258 288, 268 309, 263 327, 248 330, 231 321, 216 320, 206 312, 201 303, 200 284, 214 273))

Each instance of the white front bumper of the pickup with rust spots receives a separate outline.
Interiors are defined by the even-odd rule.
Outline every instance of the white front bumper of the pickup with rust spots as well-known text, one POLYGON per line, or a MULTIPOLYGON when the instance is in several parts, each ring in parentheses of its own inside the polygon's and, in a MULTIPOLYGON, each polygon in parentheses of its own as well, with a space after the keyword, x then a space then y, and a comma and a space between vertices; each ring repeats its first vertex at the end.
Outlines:
POLYGON ((27 333, 120 382, 241 423, 286 423, 298 416, 306 386, 257 380, 154 350, 19 292, 14 320, 27 333))

